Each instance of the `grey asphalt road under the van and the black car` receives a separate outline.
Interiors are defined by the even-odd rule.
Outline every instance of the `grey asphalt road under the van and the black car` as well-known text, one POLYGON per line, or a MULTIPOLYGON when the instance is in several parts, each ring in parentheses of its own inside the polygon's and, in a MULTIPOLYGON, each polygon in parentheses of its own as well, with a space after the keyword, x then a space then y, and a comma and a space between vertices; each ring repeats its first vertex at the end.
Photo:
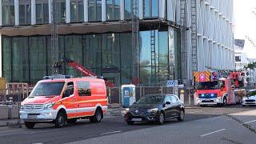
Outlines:
MULTIPOLYGON (((208 140, 212 141, 212 136, 201 137, 200 135, 218 130, 220 131, 216 134, 227 133, 228 130, 230 130, 230 133, 227 134, 238 134, 239 131, 239 134, 242 133, 240 134, 241 138, 243 138, 243 134, 246 134, 246 137, 254 136, 250 138, 256 140, 255 134, 239 123, 240 121, 250 122, 248 124, 251 125, 250 128, 253 130, 256 127, 256 121, 253 122, 256 120, 256 112, 246 111, 254 109, 256 107, 242 108, 241 106, 187 109, 185 122, 171 120, 163 126, 152 123, 137 123, 134 126, 128 126, 122 117, 114 117, 105 118, 100 123, 90 123, 87 120, 82 120, 75 125, 67 125, 62 129, 56 129, 52 124, 38 124, 33 130, 28 130, 24 126, 21 129, 0 127, 0 143, 155 143, 157 140, 159 143, 159 138, 162 140, 160 143, 197 141, 204 143, 208 140), (236 119, 223 116, 223 114, 234 113, 238 113, 234 115, 236 119), (129 138, 132 138, 133 141, 130 141, 129 138), (152 140, 148 141, 147 139, 152 140)), ((220 143, 232 143, 233 137, 231 140, 229 138, 231 137, 220 137, 218 140, 220 143)), ((237 137, 233 139, 235 138, 237 137)), ((239 143, 237 139, 234 142, 239 143)))

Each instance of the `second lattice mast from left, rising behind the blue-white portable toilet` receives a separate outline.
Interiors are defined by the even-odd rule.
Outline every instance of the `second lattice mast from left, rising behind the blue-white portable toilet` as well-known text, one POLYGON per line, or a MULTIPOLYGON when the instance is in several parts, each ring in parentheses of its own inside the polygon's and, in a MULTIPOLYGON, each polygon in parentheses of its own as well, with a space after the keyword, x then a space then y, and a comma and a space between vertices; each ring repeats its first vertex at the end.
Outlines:
POLYGON ((134 56, 133 76, 139 78, 139 19, 138 0, 132 0, 132 51, 134 56))

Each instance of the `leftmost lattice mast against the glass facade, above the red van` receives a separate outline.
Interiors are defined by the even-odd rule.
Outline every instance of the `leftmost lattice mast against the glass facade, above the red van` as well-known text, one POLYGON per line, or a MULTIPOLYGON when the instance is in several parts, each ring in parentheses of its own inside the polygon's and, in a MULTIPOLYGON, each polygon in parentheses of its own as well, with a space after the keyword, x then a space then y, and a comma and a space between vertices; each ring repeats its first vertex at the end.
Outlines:
MULTIPOLYGON (((51 1, 51 62, 58 62, 58 0, 51 1)), ((52 74, 58 74, 58 67, 52 66, 52 74)))

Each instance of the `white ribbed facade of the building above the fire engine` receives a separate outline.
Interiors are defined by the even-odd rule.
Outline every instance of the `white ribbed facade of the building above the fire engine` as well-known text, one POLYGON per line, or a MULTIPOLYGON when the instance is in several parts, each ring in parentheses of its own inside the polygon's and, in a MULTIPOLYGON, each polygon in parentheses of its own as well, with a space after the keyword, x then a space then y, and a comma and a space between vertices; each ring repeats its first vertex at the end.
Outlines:
POLYGON ((198 0, 198 70, 234 70, 232 19, 233 0, 198 0))

